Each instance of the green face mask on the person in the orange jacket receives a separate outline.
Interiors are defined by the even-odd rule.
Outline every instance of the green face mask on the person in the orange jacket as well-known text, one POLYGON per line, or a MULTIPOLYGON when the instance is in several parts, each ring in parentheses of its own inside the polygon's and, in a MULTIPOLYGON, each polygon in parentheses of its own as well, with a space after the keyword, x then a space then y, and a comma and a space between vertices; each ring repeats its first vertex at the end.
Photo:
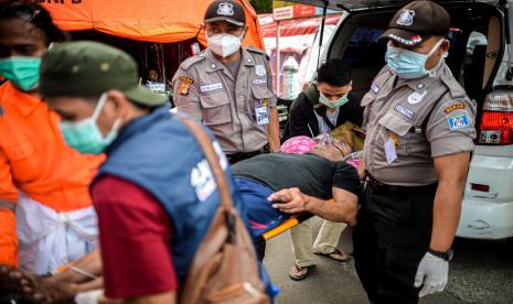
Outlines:
POLYGON ((40 57, 7 57, 0 59, 0 75, 3 75, 17 88, 29 91, 38 87, 40 65, 40 57))

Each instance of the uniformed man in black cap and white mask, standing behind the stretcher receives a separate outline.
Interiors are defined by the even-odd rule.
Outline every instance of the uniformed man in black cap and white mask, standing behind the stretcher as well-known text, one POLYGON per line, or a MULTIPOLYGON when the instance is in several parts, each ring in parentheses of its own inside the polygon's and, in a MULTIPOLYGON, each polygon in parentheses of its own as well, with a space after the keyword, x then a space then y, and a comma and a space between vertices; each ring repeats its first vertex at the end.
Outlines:
POLYGON ((206 124, 231 163, 279 150, 279 123, 268 56, 241 47, 244 8, 213 1, 205 13, 207 50, 184 61, 173 77, 174 102, 206 124))

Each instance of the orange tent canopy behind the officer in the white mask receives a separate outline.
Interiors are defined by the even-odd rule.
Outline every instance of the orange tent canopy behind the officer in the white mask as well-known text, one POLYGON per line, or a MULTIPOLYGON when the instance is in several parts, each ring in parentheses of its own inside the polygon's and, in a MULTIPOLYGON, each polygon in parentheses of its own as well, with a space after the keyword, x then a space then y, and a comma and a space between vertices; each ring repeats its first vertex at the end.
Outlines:
MULTIPOLYGON (((265 50, 257 13, 248 0, 244 6, 248 26, 245 46, 265 50)), ((39 0, 64 31, 96 30, 110 35, 156 43, 197 37, 206 45, 203 18, 212 0, 39 0)))

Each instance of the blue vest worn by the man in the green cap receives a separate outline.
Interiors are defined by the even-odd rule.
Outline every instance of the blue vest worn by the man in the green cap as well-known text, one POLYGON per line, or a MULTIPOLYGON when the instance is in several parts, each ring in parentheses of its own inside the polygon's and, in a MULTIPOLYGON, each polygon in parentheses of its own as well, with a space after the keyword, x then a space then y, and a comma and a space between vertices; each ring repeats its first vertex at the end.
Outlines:
MULTIPOLYGON (((172 222, 171 253, 182 282, 221 203, 200 144, 161 107, 122 128, 95 181, 106 174, 138 185, 163 206, 172 222)), ((226 174, 235 207, 245 220, 229 170, 226 174)))

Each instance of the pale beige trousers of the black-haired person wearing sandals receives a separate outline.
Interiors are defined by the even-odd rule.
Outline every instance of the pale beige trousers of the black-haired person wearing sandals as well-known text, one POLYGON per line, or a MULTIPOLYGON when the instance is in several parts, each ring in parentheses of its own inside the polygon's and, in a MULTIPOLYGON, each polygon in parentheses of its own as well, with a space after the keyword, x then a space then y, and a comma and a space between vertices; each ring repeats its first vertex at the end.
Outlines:
POLYGON ((312 265, 313 252, 324 254, 333 252, 339 243, 342 231, 348 226, 345 222, 334 222, 324 219, 312 247, 312 219, 313 217, 290 229, 292 253, 296 264, 299 267, 312 265))

